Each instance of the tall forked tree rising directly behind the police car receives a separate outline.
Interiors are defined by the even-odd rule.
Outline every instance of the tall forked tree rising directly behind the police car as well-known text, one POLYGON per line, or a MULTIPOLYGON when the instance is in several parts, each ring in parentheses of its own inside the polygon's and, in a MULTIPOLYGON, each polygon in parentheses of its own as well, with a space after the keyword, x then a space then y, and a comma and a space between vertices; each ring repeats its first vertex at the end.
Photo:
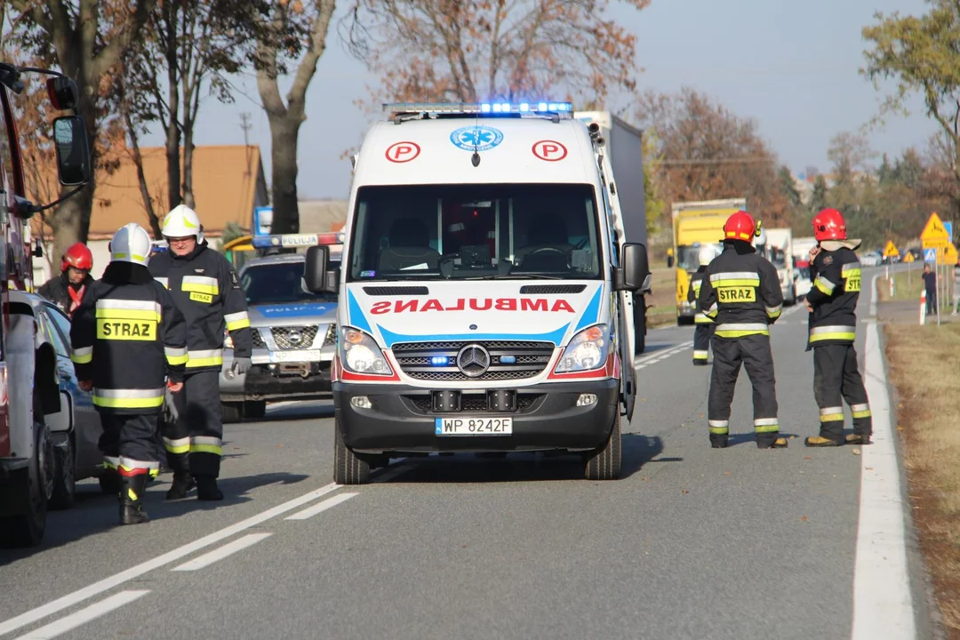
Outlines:
POLYGON ((256 53, 256 86, 270 122, 271 191, 274 233, 297 233, 300 209, 297 199, 297 145, 300 125, 306 120, 306 90, 326 49, 326 36, 335 9, 334 0, 281 0, 273 7, 268 28, 260 34, 256 53), (297 59, 286 102, 278 78, 285 59, 297 59))

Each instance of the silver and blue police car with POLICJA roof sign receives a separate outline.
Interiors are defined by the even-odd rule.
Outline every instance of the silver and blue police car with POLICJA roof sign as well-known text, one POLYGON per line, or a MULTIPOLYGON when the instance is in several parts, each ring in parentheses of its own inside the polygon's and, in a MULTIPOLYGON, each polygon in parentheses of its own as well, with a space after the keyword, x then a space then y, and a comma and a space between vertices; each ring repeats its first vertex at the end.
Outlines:
MULTIPOLYGON (((309 247, 324 242, 339 266, 342 234, 254 236, 254 249, 309 247)), ((226 336, 220 400, 225 422, 264 415, 267 402, 329 397, 336 344, 337 296, 313 294, 303 284, 304 255, 281 253, 248 260, 240 285, 247 296, 253 341, 252 367, 231 371, 233 341, 226 336)))

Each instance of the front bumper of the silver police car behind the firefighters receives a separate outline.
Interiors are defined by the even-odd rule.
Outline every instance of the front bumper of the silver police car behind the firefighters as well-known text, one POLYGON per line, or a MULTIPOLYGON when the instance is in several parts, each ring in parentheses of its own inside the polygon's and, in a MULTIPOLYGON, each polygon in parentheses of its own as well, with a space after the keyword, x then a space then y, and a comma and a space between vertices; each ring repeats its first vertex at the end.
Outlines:
POLYGON ((232 365, 232 352, 225 352, 224 368, 220 372, 222 402, 312 400, 330 397, 330 360, 254 364, 242 375, 231 375, 232 365))

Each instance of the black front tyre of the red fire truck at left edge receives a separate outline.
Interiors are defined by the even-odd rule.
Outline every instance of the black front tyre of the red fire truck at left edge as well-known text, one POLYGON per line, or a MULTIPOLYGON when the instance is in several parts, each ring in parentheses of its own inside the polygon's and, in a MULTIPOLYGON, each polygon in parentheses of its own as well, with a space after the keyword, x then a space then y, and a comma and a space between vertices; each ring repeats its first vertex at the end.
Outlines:
POLYGON ((0 519, 0 546, 36 547, 47 531, 48 479, 52 456, 49 429, 42 422, 34 422, 36 432, 36 455, 23 475, 21 487, 27 492, 26 512, 0 519))

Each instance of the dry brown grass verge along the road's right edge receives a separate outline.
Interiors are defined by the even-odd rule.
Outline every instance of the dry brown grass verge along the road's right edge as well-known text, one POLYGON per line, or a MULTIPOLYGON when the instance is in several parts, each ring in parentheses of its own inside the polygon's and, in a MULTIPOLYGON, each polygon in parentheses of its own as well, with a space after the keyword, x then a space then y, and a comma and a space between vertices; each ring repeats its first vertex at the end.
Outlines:
POLYGON ((914 521, 950 640, 960 640, 960 324, 887 324, 914 521))

